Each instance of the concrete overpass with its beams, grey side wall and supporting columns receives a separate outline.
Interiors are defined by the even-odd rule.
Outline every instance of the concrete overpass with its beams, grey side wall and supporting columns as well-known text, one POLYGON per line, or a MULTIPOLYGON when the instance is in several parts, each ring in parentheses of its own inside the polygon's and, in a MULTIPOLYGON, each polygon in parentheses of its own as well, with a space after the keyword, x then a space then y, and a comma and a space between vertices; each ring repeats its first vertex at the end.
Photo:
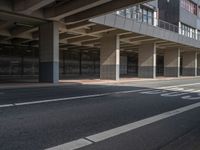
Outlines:
MULTIPOLYGON (((156 57, 154 57, 156 48, 162 54, 166 49, 175 49, 170 55, 168 53, 166 55, 180 56, 180 49, 182 52, 197 52, 200 45, 199 41, 178 33, 138 23, 113 13, 119 9, 147 1, 2 0, 0 2, 0 43, 24 46, 27 47, 26 49, 39 48, 39 81, 53 83, 59 80, 59 55, 60 57, 63 55, 61 51, 63 53, 69 49, 99 51, 105 46, 104 50, 101 50, 100 63, 106 65, 100 64, 100 78, 118 80, 120 51, 128 52, 131 49, 132 52, 138 53, 136 49, 147 45, 146 48, 142 47, 141 49, 151 47, 152 53, 148 57, 152 57, 151 54, 153 57, 148 64, 145 63, 146 59, 149 59, 148 57, 143 60, 144 66, 143 69, 139 67, 141 70, 139 77, 154 78, 156 77, 156 57), (104 44, 102 45, 102 43, 104 44), (109 51, 108 49, 113 51, 106 53, 109 51), (102 61, 102 58, 105 60, 102 61)), ((140 55, 141 59, 144 58, 144 55, 145 52, 140 55)), ((184 56, 187 57, 188 54, 184 54, 184 56)), ((197 53, 191 54, 193 60, 196 57, 197 53)), ((173 61, 175 64, 168 62, 169 65, 165 70, 169 71, 166 71, 166 76, 179 76, 178 57, 173 61)), ((22 66, 25 65, 26 63, 22 66)), ((197 61, 189 65, 183 74, 197 75, 196 70, 193 69, 194 66, 197 66, 197 61)), ((80 72, 81 69, 79 68, 80 72)), ((20 71, 24 72, 24 69, 20 71)))

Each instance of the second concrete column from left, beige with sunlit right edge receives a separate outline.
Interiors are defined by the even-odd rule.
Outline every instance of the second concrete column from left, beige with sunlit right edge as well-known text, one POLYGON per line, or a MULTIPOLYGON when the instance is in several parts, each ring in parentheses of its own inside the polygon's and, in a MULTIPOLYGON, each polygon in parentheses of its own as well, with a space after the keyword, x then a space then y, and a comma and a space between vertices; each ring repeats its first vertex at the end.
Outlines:
POLYGON ((100 79, 119 80, 120 41, 117 35, 106 35, 101 39, 100 79))

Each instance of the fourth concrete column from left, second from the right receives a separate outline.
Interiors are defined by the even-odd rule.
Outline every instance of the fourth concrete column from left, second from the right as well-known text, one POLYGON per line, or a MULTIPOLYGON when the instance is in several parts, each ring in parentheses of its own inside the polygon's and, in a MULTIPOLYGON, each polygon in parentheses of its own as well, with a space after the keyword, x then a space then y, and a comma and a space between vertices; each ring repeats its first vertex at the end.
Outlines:
POLYGON ((164 76, 180 76, 180 49, 170 49, 164 52, 164 76))

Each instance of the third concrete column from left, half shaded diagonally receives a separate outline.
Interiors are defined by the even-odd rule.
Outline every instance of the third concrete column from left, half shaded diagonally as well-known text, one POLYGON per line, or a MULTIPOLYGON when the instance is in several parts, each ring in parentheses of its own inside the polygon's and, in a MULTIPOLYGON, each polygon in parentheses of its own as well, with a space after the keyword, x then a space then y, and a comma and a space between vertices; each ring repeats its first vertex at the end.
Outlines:
POLYGON ((138 76, 156 78, 156 44, 143 44, 139 47, 138 76))

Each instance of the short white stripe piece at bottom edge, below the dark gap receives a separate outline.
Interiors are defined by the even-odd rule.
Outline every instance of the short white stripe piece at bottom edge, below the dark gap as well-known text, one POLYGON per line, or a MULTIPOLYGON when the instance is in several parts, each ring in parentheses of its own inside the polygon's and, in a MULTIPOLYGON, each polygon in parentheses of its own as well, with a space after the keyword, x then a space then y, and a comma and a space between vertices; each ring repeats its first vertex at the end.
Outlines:
POLYGON ((74 150, 74 149, 88 146, 90 144, 92 144, 92 142, 85 140, 85 139, 79 139, 79 140, 72 141, 72 142, 62 144, 59 146, 55 146, 52 148, 47 148, 45 150, 74 150))

